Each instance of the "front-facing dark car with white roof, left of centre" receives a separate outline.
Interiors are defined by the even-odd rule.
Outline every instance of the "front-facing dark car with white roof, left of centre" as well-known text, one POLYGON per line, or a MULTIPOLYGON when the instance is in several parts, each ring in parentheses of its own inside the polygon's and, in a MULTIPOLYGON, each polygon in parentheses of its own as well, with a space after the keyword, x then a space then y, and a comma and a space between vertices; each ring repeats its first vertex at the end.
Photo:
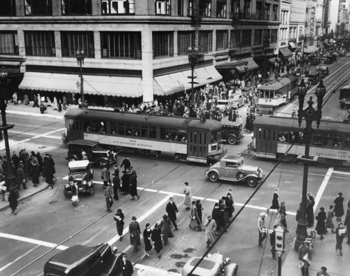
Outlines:
POLYGON ((71 197, 74 184, 78 187, 78 193, 94 193, 94 171, 90 168, 89 160, 71 161, 68 170, 68 183, 64 184, 63 189, 66 198, 71 197))

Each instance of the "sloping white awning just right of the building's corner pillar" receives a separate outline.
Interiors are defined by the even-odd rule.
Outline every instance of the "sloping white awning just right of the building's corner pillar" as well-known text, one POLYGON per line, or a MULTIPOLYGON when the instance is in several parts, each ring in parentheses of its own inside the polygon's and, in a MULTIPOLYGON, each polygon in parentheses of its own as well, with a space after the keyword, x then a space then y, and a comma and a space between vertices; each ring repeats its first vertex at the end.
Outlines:
MULTIPOLYGON (((191 85, 191 70, 180 71, 172 74, 162 76, 155 76, 153 78, 153 94, 154 95, 171 95, 181 90, 190 89, 191 85)), ((216 71, 214 65, 207 67, 195 68, 193 72, 194 78, 193 87, 220 81, 223 76, 216 71)))

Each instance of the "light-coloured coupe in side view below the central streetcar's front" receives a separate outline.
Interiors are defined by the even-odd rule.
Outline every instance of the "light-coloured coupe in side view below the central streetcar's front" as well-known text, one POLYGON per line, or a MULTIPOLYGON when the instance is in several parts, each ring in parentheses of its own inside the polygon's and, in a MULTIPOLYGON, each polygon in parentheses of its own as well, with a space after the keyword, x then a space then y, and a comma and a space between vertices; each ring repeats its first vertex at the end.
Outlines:
POLYGON ((250 187, 258 185, 258 182, 264 177, 260 167, 244 165, 243 157, 232 155, 226 155, 221 158, 218 163, 211 165, 204 174, 213 182, 219 179, 246 182, 250 187))

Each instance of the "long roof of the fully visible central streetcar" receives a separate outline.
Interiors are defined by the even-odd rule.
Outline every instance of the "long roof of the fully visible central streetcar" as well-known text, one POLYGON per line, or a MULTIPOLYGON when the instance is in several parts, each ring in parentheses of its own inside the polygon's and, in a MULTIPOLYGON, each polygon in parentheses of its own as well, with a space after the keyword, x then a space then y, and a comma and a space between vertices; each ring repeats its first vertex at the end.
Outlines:
POLYGON ((178 116, 158 116, 133 112, 100 111, 96 109, 68 109, 65 118, 85 118, 90 120, 111 120, 121 123, 139 123, 163 127, 192 127, 206 130, 220 130, 221 123, 216 120, 201 122, 198 118, 178 116), (146 122, 146 123, 145 123, 146 122))

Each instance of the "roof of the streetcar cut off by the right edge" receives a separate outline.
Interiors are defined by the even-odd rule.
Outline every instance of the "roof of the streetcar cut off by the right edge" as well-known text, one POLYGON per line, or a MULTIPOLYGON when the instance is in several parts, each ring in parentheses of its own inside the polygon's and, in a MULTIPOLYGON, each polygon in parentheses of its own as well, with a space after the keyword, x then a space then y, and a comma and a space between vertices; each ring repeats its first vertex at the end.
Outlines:
MULTIPOLYGON (((303 120, 304 121, 304 120, 303 120)), ((277 129, 292 129, 296 128, 298 130, 304 130, 305 123, 303 122, 301 127, 297 122, 297 118, 290 117, 278 117, 278 116, 260 116, 256 117, 254 120, 254 125, 259 126, 269 126, 277 129)), ((316 123, 313 125, 314 131, 316 131, 316 123)), ((339 121, 321 120, 319 130, 327 130, 334 132, 347 132, 349 133, 349 123, 343 123, 339 121)))

